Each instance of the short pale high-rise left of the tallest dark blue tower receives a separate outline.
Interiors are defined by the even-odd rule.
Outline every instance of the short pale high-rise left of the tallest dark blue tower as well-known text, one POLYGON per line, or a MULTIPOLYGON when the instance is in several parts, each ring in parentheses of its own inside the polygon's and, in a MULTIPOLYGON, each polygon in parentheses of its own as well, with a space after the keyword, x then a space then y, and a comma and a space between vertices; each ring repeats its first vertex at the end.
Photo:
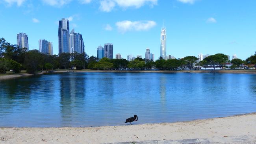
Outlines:
POLYGON ((42 54, 53 55, 52 42, 48 42, 45 39, 39 39, 39 52, 41 52, 42 54))

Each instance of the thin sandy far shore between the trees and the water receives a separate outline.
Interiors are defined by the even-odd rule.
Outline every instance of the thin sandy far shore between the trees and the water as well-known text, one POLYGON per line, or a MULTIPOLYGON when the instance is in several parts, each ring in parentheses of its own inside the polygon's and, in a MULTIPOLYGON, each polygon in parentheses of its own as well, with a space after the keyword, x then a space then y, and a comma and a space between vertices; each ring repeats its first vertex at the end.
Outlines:
MULTIPOLYGON (((118 73, 213 73, 213 70, 53 70, 51 73, 65 72, 118 72, 118 73)), ((46 70, 35 73, 35 75, 46 74, 46 70)), ((256 70, 215 70, 215 73, 220 74, 256 74, 256 70)), ((34 74, 1 74, 0 80, 33 76, 34 74)))

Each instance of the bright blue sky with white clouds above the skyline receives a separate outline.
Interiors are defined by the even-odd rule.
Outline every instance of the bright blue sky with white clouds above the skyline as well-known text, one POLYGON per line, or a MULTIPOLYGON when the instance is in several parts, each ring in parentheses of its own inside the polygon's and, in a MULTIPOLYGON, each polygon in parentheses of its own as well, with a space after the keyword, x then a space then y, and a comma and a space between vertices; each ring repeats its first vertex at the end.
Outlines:
POLYGON ((113 53, 160 56, 165 20, 167 55, 223 53, 246 59, 256 51, 256 0, 0 0, 0 37, 16 44, 28 34, 30 50, 38 40, 53 42, 58 54, 58 20, 83 35, 85 52, 113 43, 113 53))

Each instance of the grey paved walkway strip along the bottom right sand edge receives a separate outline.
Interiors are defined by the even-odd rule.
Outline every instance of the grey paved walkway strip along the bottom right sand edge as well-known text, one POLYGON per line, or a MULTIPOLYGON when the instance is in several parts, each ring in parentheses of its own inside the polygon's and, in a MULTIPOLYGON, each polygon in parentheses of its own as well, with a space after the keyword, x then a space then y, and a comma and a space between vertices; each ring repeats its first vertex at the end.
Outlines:
POLYGON ((111 144, 256 144, 256 135, 245 135, 237 137, 197 138, 184 140, 148 140, 140 142, 118 142, 111 144))

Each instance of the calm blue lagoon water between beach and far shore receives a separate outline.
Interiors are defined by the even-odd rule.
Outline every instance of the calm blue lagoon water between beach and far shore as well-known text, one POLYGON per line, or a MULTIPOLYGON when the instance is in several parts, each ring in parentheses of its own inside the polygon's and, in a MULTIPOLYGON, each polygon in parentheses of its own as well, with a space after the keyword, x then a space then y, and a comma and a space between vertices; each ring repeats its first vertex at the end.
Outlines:
POLYGON ((65 73, 0 81, 0 127, 177 122, 256 112, 256 75, 65 73))

